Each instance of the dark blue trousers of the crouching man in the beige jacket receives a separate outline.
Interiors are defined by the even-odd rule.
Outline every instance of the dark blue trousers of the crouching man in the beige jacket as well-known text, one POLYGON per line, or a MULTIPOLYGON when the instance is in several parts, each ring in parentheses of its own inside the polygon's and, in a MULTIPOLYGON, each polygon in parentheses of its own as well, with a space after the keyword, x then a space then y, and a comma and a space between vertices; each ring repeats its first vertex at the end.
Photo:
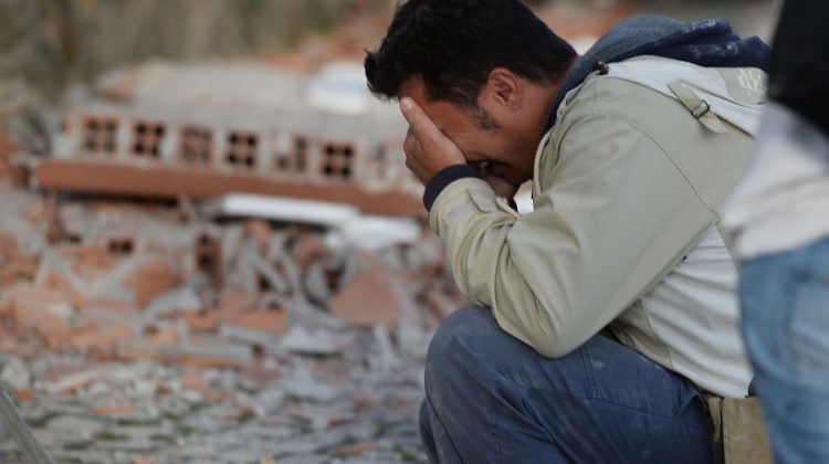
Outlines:
POLYGON ((420 431, 431 462, 704 464, 703 408, 691 382, 609 338, 549 359, 470 307, 429 346, 420 431))

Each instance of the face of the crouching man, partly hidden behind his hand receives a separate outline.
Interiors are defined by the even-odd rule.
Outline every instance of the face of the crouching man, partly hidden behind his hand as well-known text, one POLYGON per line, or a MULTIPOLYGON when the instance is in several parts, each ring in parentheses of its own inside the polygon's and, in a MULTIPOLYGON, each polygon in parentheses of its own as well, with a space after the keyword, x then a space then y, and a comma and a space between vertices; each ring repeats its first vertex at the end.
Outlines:
POLYGON ((527 143, 516 134, 510 120, 499 120, 483 105, 474 109, 449 102, 429 101, 419 78, 406 82, 399 97, 412 98, 461 149, 466 162, 479 168, 485 178, 494 176, 515 188, 532 178, 537 140, 527 143), (482 124, 484 119, 490 124, 482 124), (491 127, 492 123, 499 127, 491 127))

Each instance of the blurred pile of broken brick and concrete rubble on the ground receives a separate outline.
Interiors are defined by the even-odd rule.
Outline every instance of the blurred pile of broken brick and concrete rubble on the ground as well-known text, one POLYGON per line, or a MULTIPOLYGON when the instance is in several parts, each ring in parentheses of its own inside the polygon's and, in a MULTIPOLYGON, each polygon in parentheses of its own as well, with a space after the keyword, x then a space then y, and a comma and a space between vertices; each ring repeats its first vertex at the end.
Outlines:
MULTIPOLYGON (((422 462, 437 238, 0 192, 0 386, 55 462, 422 462)), ((0 433, 0 462, 22 462, 0 433)))

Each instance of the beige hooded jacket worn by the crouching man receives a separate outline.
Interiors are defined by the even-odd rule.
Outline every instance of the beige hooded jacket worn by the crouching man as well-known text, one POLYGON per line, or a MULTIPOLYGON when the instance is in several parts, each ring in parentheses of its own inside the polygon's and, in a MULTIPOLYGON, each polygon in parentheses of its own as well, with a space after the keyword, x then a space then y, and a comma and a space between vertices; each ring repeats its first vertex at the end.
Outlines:
POLYGON ((704 253, 722 244, 712 225, 747 161, 762 74, 649 57, 588 76, 567 94, 538 148, 532 213, 518 215, 480 179, 457 180, 438 196, 429 222, 460 288, 544 356, 564 356, 609 326, 625 345, 697 384, 744 394, 751 372, 734 266, 723 245, 725 271, 707 278, 704 253), (640 68, 653 82, 637 82, 640 68), (694 73, 699 82, 681 82, 690 94, 669 88, 694 73), (725 103, 711 103, 697 119, 701 96, 725 103), (695 282, 696 271, 676 270, 702 242, 695 282), (669 296, 644 304, 674 273, 691 298, 672 299, 662 288, 669 296), (707 292, 720 296, 706 299, 707 292), (689 314, 697 319, 690 330, 682 323, 654 328, 689 314))

